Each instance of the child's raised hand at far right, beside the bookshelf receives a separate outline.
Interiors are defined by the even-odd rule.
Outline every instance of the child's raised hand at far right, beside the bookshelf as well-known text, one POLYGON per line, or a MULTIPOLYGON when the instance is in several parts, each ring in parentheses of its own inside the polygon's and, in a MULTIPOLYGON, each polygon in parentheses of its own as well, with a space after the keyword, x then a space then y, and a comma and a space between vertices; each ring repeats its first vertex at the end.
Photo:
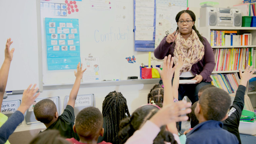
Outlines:
POLYGON ((242 70, 239 69, 239 75, 241 78, 240 84, 247 86, 247 81, 250 80, 253 77, 256 77, 256 74, 253 74, 255 72, 255 69, 252 70, 253 66, 247 66, 245 71, 242 73, 242 70))

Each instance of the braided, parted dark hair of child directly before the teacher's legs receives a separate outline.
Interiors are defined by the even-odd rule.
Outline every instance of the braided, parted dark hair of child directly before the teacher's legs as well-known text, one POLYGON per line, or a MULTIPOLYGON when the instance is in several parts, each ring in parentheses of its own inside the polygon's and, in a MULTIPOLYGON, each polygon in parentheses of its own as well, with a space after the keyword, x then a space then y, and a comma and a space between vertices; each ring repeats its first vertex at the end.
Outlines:
POLYGON ((150 99, 156 103, 159 107, 163 107, 163 96, 164 96, 164 88, 160 84, 156 84, 150 90, 148 94, 148 104, 151 103, 150 99))

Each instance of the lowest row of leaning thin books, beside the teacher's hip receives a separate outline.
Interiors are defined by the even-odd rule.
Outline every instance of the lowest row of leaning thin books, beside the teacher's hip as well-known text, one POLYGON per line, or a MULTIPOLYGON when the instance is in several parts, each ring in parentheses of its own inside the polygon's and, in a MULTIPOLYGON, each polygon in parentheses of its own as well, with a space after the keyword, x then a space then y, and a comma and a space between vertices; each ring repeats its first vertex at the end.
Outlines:
POLYGON ((210 77, 213 79, 213 85, 223 89, 229 94, 235 93, 240 83, 237 73, 212 74, 210 77))

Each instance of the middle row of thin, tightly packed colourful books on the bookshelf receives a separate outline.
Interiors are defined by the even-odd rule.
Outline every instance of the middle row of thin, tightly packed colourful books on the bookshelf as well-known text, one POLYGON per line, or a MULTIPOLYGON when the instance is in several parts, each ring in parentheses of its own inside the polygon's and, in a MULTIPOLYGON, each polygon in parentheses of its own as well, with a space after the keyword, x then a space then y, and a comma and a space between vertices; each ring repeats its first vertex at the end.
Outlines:
POLYGON ((244 70, 248 65, 255 65, 256 50, 253 47, 215 48, 213 51, 216 63, 214 71, 244 70))

